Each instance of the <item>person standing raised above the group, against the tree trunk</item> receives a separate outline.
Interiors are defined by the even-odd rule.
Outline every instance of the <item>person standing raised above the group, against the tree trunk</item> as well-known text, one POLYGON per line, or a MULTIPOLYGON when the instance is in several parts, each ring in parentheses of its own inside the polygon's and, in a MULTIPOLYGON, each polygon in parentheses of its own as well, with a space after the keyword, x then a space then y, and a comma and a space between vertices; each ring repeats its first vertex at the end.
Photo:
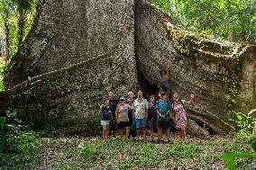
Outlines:
POLYGON ((167 74, 166 70, 160 70, 160 81, 159 81, 159 88, 160 88, 160 93, 164 92, 167 97, 169 98, 170 94, 170 85, 169 85, 169 76, 167 74))

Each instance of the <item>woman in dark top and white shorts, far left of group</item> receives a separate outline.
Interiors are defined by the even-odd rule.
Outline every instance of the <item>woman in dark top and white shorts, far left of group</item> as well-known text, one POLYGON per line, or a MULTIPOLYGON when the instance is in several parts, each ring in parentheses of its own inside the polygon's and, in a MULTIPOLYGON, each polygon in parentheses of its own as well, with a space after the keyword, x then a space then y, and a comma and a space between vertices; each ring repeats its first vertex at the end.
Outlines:
POLYGON ((102 139, 108 139, 109 133, 109 121, 112 120, 112 112, 109 106, 109 100, 105 100, 101 106, 101 125, 103 128, 103 137, 102 139))

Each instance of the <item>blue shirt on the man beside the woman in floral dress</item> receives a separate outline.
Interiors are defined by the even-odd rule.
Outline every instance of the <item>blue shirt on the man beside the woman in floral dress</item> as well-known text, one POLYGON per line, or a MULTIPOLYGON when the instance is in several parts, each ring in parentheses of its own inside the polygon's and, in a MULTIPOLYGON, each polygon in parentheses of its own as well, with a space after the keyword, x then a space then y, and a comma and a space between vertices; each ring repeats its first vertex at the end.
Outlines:
MULTIPOLYGON (((170 102, 165 100, 160 100, 158 103, 156 103, 156 109, 160 112, 161 115, 166 115, 167 112, 170 110, 170 102)), ((170 112, 169 112, 170 114, 170 112)), ((158 121, 169 121, 170 117, 169 115, 165 117, 164 119, 160 118, 160 116, 157 116, 158 121)))

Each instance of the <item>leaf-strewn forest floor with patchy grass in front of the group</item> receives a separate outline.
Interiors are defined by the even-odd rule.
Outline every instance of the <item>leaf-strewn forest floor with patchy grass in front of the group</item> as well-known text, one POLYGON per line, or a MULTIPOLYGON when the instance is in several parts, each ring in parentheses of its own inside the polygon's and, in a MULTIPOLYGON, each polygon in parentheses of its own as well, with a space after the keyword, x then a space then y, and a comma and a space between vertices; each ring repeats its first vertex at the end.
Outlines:
MULTIPOLYGON (((248 142, 231 136, 187 137, 186 143, 179 142, 177 135, 173 139, 174 144, 156 144, 119 138, 44 138, 32 169, 225 169, 220 157, 224 152, 253 153, 248 142)), ((236 165, 251 169, 254 161, 239 158, 236 165)))

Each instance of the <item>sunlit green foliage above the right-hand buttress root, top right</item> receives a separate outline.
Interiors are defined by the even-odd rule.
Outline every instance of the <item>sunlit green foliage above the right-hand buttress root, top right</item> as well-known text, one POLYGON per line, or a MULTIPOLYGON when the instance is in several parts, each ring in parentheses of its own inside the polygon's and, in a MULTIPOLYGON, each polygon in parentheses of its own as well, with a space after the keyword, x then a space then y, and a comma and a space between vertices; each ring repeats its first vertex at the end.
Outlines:
POLYGON ((233 41, 256 41, 255 0, 151 0, 178 26, 233 41))

